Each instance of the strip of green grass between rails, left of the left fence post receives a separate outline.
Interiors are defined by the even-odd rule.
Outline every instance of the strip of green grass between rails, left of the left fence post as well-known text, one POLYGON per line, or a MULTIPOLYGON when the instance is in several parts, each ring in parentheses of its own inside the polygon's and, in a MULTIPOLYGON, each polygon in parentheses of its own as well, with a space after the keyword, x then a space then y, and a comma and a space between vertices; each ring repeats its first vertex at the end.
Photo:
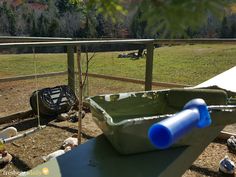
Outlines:
POLYGON ((66 71, 66 54, 14 54, 0 55, 1 75, 29 75, 66 71))

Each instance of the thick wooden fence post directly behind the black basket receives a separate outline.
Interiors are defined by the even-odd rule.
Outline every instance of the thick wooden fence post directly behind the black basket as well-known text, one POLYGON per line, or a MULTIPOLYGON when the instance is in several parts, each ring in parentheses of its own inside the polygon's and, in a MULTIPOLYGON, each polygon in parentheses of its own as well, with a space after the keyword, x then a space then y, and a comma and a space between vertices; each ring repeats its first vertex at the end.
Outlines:
POLYGON ((75 91, 74 47, 67 46, 68 86, 75 91))

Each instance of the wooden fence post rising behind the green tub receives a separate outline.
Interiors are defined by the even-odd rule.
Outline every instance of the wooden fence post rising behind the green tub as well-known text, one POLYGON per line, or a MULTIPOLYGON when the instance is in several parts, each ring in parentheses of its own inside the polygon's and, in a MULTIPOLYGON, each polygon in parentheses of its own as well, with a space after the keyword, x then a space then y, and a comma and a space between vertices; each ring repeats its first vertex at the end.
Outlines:
POLYGON ((152 89, 152 71, 153 71, 153 43, 148 43, 147 47, 147 56, 146 56, 146 75, 145 75, 145 90, 152 89))

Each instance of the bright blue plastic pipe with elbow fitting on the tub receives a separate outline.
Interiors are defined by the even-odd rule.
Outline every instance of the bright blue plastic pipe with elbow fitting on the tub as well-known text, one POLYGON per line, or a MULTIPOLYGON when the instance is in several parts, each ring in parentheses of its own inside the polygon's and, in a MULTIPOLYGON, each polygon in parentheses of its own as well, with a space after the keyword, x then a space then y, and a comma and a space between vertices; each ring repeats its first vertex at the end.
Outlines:
POLYGON ((158 149, 166 149, 186 135, 194 127, 204 128, 211 124, 211 117, 203 99, 193 99, 183 111, 152 125, 148 137, 158 149))

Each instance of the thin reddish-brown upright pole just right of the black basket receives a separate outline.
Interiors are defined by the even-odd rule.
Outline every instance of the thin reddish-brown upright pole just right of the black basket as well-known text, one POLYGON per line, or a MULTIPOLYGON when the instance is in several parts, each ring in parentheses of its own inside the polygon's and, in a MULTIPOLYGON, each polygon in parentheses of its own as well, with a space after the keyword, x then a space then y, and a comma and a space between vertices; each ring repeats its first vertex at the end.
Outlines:
POLYGON ((77 46, 77 67, 79 80, 79 115, 78 115, 78 144, 81 144, 81 130, 82 130, 82 106, 83 106, 83 81, 81 68, 81 46, 77 46))

